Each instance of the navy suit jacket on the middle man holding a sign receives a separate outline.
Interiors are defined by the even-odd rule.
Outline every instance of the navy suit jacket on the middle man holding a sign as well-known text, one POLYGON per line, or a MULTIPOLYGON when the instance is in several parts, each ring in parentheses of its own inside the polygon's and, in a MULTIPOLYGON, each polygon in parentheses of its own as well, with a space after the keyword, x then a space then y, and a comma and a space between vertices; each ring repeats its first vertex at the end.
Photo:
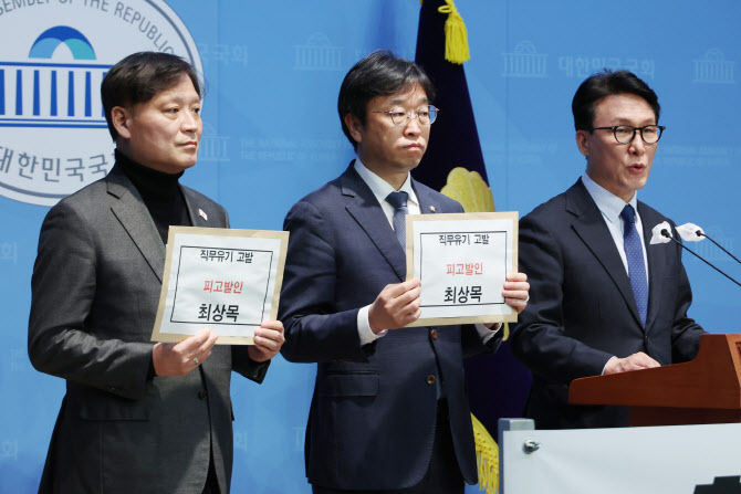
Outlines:
MULTIPOLYGON (((413 180, 421 211, 462 212, 458 202, 413 180)), ((465 351, 483 346, 473 326, 389 330, 361 346, 357 313, 384 286, 406 277, 406 257, 377 199, 353 165, 299 201, 279 318, 283 356, 319 362, 306 429, 306 476, 317 486, 392 490, 427 472, 436 428, 438 364, 463 477, 477 482, 465 351)))

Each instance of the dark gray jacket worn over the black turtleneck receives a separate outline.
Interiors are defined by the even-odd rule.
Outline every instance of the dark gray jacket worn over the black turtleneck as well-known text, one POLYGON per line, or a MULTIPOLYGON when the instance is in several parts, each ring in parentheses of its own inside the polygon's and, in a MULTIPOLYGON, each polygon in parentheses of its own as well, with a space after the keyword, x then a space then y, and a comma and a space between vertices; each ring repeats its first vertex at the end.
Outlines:
MULTIPOLYGON (((192 225, 229 227, 223 208, 182 191, 192 225)), ((187 376, 147 379, 164 265, 155 223, 117 166, 49 211, 29 355, 36 369, 66 379, 66 396, 39 492, 200 494, 211 448, 229 492, 231 370, 260 382, 267 366, 247 347, 218 346, 187 376)))

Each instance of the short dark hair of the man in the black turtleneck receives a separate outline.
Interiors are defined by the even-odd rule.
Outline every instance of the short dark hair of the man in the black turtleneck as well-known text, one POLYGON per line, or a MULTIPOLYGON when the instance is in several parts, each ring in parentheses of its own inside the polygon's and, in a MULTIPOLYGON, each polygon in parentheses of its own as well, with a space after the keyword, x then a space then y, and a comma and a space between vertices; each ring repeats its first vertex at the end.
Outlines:
POLYGON ((111 67, 101 84, 101 99, 113 140, 118 137, 111 120, 111 111, 114 107, 146 103, 157 93, 175 87, 182 74, 190 77, 196 93, 202 97, 196 70, 177 55, 158 52, 133 53, 111 67))

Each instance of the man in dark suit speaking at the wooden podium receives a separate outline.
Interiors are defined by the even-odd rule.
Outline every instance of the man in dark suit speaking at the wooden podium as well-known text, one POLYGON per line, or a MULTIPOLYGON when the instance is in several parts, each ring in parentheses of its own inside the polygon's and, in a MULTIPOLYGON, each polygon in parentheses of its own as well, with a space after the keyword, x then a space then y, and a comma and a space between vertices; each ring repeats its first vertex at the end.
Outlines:
POLYGON ((586 172, 520 221, 532 301, 512 334, 533 372, 525 414, 539 429, 620 427, 619 407, 568 404, 576 378, 695 357, 700 326, 676 243, 649 243, 671 220, 639 202, 664 127, 656 93, 630 72, 588 77, 572 103, 586 172))

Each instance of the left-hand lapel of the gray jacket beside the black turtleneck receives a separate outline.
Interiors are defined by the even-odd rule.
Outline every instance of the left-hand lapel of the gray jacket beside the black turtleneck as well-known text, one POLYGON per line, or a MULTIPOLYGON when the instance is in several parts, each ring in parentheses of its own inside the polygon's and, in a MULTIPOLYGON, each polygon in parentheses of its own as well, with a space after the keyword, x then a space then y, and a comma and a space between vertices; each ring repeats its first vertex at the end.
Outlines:
POLYGON ((165 245, 163 245, 157 227, 144 200, 121 168, 114 167, 106 177, 106 181, 108 195, 112 197, 113 214, 128 232, 152 271, 161 282, 165 269, 165 245))

